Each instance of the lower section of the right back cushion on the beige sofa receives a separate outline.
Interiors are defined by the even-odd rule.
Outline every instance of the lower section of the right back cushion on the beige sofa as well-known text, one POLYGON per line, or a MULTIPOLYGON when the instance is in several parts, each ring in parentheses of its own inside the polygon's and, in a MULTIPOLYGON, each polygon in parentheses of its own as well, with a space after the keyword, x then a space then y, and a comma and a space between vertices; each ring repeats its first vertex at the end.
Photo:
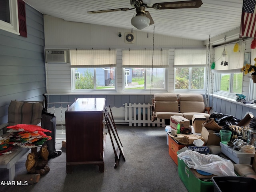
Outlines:
POLYGON ((180 112, 204 113, 204 102, 200 101, 180 101, 180 112))

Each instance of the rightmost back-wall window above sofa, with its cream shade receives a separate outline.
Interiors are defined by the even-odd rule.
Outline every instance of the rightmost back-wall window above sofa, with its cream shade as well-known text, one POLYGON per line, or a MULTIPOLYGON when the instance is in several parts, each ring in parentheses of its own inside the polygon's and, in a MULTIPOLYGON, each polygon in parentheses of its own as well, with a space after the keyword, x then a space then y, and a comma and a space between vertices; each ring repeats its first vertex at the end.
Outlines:
POLYGON ((206 50, 175 50, 175 89, 204 90, 206 50))

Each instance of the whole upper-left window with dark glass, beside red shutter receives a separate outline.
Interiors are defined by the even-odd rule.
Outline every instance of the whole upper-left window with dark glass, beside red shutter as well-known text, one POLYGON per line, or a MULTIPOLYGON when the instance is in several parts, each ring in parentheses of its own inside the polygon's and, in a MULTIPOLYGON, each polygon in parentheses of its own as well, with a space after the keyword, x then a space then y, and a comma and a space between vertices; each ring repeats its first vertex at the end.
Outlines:
POLYGON ((18 23, 18 2, 17 0, 0 1, 0 29, 19 33, 18 23))

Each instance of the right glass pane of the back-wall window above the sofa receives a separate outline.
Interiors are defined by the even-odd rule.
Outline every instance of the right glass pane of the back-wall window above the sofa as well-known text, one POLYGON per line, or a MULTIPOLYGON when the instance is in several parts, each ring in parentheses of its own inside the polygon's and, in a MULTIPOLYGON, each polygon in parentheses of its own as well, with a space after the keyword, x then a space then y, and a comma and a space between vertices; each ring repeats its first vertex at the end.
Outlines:
POLYGON ((204 89, 204 67, 194 67, 191 70, 191 89, 204 89))

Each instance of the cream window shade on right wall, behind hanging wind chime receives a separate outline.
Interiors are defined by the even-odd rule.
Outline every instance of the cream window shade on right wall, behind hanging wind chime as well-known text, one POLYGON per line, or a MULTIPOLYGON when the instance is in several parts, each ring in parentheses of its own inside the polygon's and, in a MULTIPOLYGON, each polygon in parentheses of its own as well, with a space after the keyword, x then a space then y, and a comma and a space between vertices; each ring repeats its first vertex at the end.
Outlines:
POLYGON ((226 50, 226 58, 224 58, 224 62, 228 62, 228 65, 221 65, 223 60, 222 52, 224 50, 224 46, 219 46, 214 48, 214 63, 215 68, 212 70, 214 73, 240 73, 242 67, 244 66, 244 42, 240 43, 240 51, 234 52, 235 44, 228 44, 225 47, 226 50))

